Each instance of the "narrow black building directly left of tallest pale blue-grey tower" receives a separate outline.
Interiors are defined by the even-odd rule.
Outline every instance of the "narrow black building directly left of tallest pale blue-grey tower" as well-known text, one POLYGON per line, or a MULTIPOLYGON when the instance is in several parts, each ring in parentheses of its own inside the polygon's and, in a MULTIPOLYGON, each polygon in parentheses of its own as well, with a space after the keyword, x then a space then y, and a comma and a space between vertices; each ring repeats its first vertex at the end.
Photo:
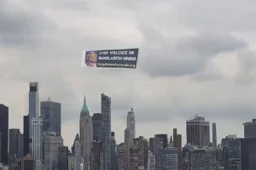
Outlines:
POLYGON ((29 154, 29 116, 23 116, 23 156, 29 154))

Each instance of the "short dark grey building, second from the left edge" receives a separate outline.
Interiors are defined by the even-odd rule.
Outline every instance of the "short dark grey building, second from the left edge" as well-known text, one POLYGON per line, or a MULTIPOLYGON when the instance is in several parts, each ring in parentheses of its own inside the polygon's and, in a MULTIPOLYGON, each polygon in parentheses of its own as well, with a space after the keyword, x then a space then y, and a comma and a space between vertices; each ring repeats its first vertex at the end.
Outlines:
POLYGON ((20 129, 10 128, 9 129, 9 165, 14 166, 16 161, 16 155, 18 153, 18 133, 20 129))

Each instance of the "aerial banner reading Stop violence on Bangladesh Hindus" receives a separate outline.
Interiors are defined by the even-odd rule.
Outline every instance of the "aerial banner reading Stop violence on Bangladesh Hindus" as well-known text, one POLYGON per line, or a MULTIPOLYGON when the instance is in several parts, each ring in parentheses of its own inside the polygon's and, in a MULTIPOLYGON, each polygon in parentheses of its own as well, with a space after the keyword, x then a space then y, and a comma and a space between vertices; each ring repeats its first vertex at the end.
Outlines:
POLYGON ((82 67, 132 68, 137 66, 138 48, 83 51, 82 67))

